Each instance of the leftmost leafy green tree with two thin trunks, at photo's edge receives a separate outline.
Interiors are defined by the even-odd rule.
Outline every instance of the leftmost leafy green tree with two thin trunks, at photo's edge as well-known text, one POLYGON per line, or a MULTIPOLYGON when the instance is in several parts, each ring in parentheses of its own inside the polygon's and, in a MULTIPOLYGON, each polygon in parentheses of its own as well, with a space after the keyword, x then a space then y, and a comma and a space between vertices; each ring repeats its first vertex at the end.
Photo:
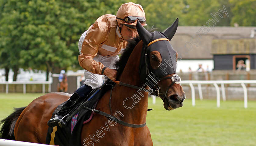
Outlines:
POLYGON ((5 80, 8 81, 9 70, 14 72, 13 80, 16 81, 18 69, 20 67, 20 51, 27 48, 26 44, 19 39, 23 34, 24 18, 19 11, 23 11, 23 7, 16 5, 14 1, 1 0, 1 20, 0 30, 2 42, 0 46, 1 66, 5 68, 5 80))

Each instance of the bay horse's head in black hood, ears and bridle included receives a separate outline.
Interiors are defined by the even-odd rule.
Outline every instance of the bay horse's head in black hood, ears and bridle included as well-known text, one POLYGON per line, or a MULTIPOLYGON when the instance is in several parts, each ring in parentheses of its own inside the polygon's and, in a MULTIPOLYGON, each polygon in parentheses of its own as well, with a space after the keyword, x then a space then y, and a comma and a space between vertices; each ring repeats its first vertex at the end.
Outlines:
POLYGON ((170 40, 176 32, 177 20, 165 32, 149 33, 140 23, 137 31, 144 42, 140 58, 140 79, 152 89, 152 94, 160 96, 166 110, 173 110, 183 105, 186 98, 180 85, 180 77, 176 75, 177 52, 170 40))

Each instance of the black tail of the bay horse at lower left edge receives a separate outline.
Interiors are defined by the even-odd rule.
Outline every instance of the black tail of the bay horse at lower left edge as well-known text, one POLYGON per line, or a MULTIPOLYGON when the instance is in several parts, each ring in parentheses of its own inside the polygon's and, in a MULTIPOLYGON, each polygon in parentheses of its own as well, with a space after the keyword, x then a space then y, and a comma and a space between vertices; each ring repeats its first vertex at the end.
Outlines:
POLYGON ((0 138, 1 139, 9 139, 9 140, 15 140, 14 137, 14 127, 16 124, 16 121, 18 120, 21 112, 26 107, 22 108, 14 108, 14 112, 10 114, 8 117, 0 121, 0 124, 2 125, 2 128, 0 130, 0 138))

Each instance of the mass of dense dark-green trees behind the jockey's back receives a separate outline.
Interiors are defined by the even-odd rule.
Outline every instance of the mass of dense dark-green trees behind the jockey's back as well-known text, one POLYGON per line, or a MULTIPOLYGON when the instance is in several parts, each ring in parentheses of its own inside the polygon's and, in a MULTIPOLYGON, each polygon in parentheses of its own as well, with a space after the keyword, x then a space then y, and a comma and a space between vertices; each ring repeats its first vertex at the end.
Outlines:
POLYGON ((37 68, 59 73, 78 67, 77 43, 95 20, 116 14, 126 1, 0 0, 1 55, 10 68, 37 68))

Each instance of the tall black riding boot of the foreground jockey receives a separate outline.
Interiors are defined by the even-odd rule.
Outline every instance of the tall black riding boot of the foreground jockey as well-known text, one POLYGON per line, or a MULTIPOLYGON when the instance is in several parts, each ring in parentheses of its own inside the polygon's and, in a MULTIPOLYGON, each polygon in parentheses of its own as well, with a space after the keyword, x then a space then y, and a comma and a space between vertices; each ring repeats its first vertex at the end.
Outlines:
POLYGON ((49 127, 66 127, 66 122, 63 117, 65 117, 69 112, 76 107, 79 102, 86 97, 90 92, 92 91, 92 88, 88 85, 83 85, 80 88, 78 88, 73 95, 69 98, 69 100, 62 106, 60 111, 58 111, 48 122, 49 127))

